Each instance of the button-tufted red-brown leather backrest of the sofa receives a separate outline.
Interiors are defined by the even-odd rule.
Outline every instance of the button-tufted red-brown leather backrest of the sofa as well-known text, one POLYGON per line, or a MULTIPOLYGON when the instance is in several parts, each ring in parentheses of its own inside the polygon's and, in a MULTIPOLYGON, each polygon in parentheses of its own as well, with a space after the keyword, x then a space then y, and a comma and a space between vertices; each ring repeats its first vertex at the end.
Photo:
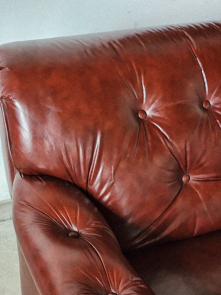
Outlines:
POLYGON ((218 23, 1 45, 11 161, 80 187, 124 250, 221 229, 220 81, 218 23))

